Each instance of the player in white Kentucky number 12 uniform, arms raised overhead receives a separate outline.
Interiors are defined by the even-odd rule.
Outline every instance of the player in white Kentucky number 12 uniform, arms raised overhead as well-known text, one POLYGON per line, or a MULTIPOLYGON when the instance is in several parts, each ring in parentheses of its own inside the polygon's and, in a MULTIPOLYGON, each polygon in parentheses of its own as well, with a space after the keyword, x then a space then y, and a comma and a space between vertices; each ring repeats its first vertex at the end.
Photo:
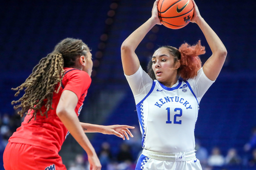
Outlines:
POLYGON ((227 52, 193 1, 191 22, 203 32, 212 51, 210 58, 201 67, 198 55, 205 51, 200 41, 193 46, 182 44, 179 49, 163 46, 154 52, 148 74, 144 72, 135 49, 155 24, 161 24, 157 3, 153 4, 152 16, 121 46, 123 70, 134 95, 142 133, 143 151, 135 170, 201 170, 194 150, 199 102, 217 78, 227 52))

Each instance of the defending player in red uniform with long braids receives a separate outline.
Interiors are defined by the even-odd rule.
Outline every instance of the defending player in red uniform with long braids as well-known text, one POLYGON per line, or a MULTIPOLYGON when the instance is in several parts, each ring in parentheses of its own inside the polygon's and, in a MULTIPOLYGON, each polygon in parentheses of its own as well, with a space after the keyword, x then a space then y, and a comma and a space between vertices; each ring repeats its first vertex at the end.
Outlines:
POLYGON ((12 104, 21 116, 21 127, 9 138, 3 154, 5 170, 66 170, 58 152, 70 134, 85 150, 91 170, 100 170, 97 155, 84 132, 132 137, 125 125, 80 123, 77 116, 90 86, 91 53, 79 39, 66 38, 42 58, 17 90, 25 94, 12 104))

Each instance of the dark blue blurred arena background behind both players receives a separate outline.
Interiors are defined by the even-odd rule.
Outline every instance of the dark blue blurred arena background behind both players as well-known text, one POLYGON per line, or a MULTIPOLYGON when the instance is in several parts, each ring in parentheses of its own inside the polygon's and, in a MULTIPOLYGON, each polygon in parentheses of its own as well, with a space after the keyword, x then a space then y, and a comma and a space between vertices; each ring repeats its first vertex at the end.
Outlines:
MULTIPOLYGON (((72 37, 82 39, 91 48, 93 57, 92 83, 79 119, 102 125, 134 125, 137 129, 133 133, 138 135, 128 142, 115 136, 87 134, 101 158, 102 170, 134 169, 141 150, 138 146, 139 125, 134 99, 122 71, 120 45, 150 17, 153 2, 0 1, 0 157, 9 136, 22 121, 10 104, 17 99, 10 88, 23 83, 32 68, 52 51, 56 43, 72 37)), ((201 163, 205 170, 256 170, 256 135, 253 131, 256 126, 255 1, 196 0, 196 4, 228 52, 219 77, 200 103, 195 125, 198 156, 204 153, 201 163), (214 148, 219 149, 222 158, 218 158, 224 161, 229 159, 227 155, 232 155, 229 149, 234 149, 238 156, 233 160, 238 161, 210 165, 209 159, 218 155, 214 148), (215 151, 213 157, 212 150, 215 151)), ((136 53, 145 69, 158 46, 179 47, 183 42, 194 44, 198 40, 206 47, 206 53, 201 56, 204 63, 211 52, 194 23, 177 30, 154 26, 136 53)), ((77 165, 86 168, 86 154, 70 135, 60 155, 67 169, 78 170, 77 165)), ((3 170, 2 161, 0 167, 3 170)))

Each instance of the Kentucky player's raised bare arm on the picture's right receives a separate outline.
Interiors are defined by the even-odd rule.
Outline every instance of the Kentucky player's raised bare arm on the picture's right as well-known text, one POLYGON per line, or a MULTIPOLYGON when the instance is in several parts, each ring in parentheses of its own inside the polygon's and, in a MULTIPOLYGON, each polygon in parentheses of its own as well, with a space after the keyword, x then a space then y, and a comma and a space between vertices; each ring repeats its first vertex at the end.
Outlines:
POLYGON ((198 7, 196 6, 194 0, 192 1, 194 3, 194 16, 191 19, 191 22, 195 22, 200 27, 212 52, 212 55, 204 63, 202 69, 204 74, 210 80, 216 80, 224 64, 227 51, 225 46, 217 36, 217 34, 210 28, 210 26, 201 17, 198 7))

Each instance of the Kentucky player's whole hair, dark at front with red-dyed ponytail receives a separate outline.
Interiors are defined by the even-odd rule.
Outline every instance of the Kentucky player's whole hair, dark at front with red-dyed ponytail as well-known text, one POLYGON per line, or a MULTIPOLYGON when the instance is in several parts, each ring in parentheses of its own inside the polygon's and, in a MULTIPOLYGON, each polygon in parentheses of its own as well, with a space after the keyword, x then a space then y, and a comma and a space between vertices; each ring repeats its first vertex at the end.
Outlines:
MULTIPOLYGON (((180 60, 180 67, 177 69, 177 75, 183 80, 188 80, 197 75, 197 71, 201 68, 201 60, 198 55, 205 53, 205 47, 201 45, 200 40, 195 45, 183 43, 178 49, 168 45, 159 48, 167 48, 170 54, 174 57, 174 63, 180 60)), ((147 64, 147 74, 153 80, 156 79, 152 69, 152 60, 149 60, 147 64)))

